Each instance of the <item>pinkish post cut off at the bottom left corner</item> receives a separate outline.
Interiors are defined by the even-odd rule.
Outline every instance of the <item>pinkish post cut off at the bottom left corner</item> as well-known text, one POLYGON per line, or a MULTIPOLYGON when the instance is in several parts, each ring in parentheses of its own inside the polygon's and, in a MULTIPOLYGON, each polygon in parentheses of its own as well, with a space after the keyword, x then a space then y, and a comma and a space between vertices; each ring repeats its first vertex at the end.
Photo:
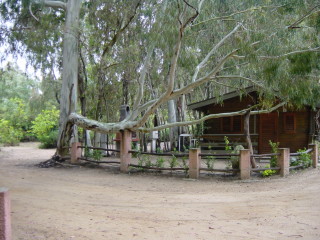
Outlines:
POLYGON ((0 240, 11 239, 10 199, 7 188, 0 188, 0 240))

